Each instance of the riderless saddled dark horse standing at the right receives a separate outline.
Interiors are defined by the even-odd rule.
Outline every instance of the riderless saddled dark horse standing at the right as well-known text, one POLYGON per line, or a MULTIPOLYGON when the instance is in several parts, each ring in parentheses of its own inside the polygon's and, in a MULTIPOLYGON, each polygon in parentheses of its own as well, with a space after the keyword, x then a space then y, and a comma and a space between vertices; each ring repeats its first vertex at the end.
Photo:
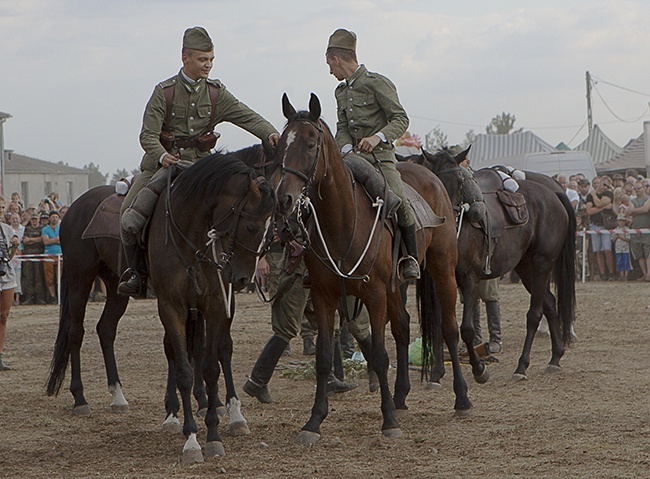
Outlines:
MULTIPOLYGON (((443 182, 458 213, 467 202, 464 192, 474 179, 459 163, 467 150, 452 156, 446 149, 435 154, 422 152, 422 164, 443 182)), ((419 160, 415 160, 419 161, 419 160)), ((508 227, 497 239, 486 273, 487 237, 466 218, 458 214, 460 235, 456 280, 464 297, 461 334, 472 338, 472 305, 478 300, 477 284, 481 279, 498 278, 515 270, 526 290, 530 304, 526 315, 526 339, 519 357, 514 380, 528 379, 530 351, 542 314, 546 316, 551 334, 551 359, 547 372, 560 370, 560 360, 572 342, 575 321, 575 233, 576 219, 571 203, 562 187, 546 175, 525 172, 526 180, 518 180, 519 189, 528 208, 529 220, 523 226, 508 227), (550 288, 555 282, 557 297, 550 288)), ((475 173, 482 175, 481 170, 475 173)), ((479 183, 480 185, 480 183, 479 183)), ((483 188, 482 193, 490 193, 483 188)), ((467 341, 466 341, 467 342, 467 341)), ((470 351, 472 360, 473 350, 470 351)), ((444 371, 444 365, 438 365, 444 371)))

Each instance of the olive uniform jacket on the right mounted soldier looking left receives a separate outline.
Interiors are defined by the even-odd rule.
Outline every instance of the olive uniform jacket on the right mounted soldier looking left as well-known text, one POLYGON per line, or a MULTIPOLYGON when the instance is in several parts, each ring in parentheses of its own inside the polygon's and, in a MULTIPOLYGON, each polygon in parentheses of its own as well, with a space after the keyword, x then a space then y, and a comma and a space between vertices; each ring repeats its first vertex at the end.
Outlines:
POLYGON ((373 150, 380 160, 395 161, 393 141, 408 128, 409 119, 399 102, 393 82, 364 65, 334 92, 337 105, 336 142, 339 148, 356 145, 379 132, 386 137, 373 150))

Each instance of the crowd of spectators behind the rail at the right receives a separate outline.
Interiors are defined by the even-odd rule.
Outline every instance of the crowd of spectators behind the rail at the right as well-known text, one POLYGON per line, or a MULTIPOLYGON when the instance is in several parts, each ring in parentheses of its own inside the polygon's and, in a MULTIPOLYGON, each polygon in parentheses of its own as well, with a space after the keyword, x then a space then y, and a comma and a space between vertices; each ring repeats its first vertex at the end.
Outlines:
POLYGON ((635 170, 614 174, 569 178, 558 175, 574 205, 578 230, 586 233, 586 254, 577 241, 578 268, 585 261, 591 281, 650 281, 650 180, 635 170))

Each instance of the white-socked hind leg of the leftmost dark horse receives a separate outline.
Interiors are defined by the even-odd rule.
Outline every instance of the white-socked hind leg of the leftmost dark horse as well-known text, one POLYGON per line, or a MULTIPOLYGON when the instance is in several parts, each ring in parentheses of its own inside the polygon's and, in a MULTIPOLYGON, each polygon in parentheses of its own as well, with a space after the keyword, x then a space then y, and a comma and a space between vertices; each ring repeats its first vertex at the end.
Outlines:
POLYGON ((123 412, 129 409, 122 392, 122 383, 117 372, 117 361, 115 360, 115 336, 117 333, 117 323, 120 321, 129 304, 129 298, 117 294, 117 281, 111 281, 110 278, 102 277, 106 287, 106 304, 102 315, 97 322, 97 336, 104 356, 104 365, 106 367, 106 377, 108 380, 108 391, 113 396, 111 410, 114 412, 123 412))

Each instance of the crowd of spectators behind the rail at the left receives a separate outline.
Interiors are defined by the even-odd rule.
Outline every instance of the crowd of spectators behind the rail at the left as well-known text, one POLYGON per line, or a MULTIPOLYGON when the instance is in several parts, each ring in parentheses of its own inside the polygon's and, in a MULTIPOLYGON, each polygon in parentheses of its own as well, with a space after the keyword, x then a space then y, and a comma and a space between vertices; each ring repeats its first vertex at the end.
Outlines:
POLYGON ((9 202, 0 197, 0 218, 20 241, 11 260, 17 283, 14 306, 57 302, 59 225, 67 209, 56 193, 49 194, 38 205, 25 205, 18 193, 12 193, 9 202))

